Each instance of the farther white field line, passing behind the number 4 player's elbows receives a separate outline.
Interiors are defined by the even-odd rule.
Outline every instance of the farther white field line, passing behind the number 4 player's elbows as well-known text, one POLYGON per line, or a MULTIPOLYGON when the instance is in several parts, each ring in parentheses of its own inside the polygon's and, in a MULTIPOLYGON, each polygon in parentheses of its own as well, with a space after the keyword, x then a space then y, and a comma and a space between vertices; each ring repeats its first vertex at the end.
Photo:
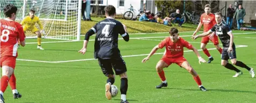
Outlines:
MULTIPOLYGON (((188 31, 190 32, 190 31, 188 31)), ((149 33, 146 33, 149 34, 149 33)), ((153 33, 152 33, 153 34, 153 33)), ((252 32, 252 33, 234 33, 234 35, 237 34, 256 34, 256 32, 252 32)), ((188 37, 191 35, 181 35, 180 37, 188 37)), ((165 38, 168 36, 158 36, 158 37, 131 37, 130 39, 141 39, 141 38, 165 38)), ((235 37, 240 37, 240 36, 235 36, 235 37)), ((242 37, 242 38, 256 38, 256 37, 242 37)), ((118 38, 118 39, 123 39, 123 38, 118 38)), ((95 41, 95 39, 90 39, 89 41, 95 41)), ((81 41, 56 41, 56 42, 41 42, 41 43, 63 43, 63 42, 81 42, 81 41)), ((30 43, 26 43, 26 44, 37 44, 37 42, 30 42, 30 43)))

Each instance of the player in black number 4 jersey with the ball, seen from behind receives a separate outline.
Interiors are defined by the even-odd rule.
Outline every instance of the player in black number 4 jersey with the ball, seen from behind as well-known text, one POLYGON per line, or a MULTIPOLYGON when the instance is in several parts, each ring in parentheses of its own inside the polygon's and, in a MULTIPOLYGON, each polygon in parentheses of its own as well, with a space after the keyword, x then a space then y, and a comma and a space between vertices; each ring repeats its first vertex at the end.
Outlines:
POLYGON ((128 88, 128 80, 126 75, 126 65, 120 51, 118 49, 118 35, 120 34, 126 42, 129 41, 129 35, 126 26, 121 22, 115 20, 116 8, 108 5, 104 8, 106 19, 96 23, 84 38, 83 48, 79 51, 84 54, 87 50, 89 37, 95 33, 94 43, 94 58, 98 59, 99 66, 105 76, 108 77, 105 85, 105 95, 107 99, 111 99, 111 85, 115 82, 115 75, 112 68, 115 70, 116 75, 120 76, 121 85, 121 103, 127 103, 126 92, 128 88))

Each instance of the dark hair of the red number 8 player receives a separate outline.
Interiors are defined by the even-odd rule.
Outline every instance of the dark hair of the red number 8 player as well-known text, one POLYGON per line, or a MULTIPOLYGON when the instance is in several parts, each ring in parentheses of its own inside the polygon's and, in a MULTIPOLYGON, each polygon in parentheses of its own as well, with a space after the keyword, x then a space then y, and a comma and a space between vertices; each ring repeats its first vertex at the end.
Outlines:
POLYGON ((11 17, 12 13, 17 13, 17 7, 15 5, 12 4, 7 4, 4 6, 4 15, 5 17, 11 17))

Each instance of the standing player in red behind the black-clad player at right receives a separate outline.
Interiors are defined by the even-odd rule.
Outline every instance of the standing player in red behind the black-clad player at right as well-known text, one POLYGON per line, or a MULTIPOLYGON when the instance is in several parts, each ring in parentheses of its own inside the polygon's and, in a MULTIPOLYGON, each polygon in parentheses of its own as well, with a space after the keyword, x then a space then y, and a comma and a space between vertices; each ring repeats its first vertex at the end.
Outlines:
MULTIPOLYGON (((211 13, 211 6, 209 4, 204 6, 204 11, 205 11, 205 13, 203 13, 201 15, 200 23, 199 23, 196 31, 194 32, 193 36, 195 36, 196 33, 201 29, 202 25, 204 28, 203 32, 207 32, 212 27, 214 27, 214 25, 216 25, 215 15, 211 13)), ((202 41, 201 41, 201 49, 203 50, 204 54, 206 54, 209 58, 209 60, 207 62, 208 64, 211 63, 212 60, 214 60, 214 58, 212 58, 212 56, 210 55, 209 51, 206 48, 206 45, 210 40, 212 43, 214 43, 214 45, 215 45, 216 49, 219 51, 219 53, 222 54, 222 48, 219 47, 218 36, 215 35, 215 32, 212 35, 203 37, 202 41)))

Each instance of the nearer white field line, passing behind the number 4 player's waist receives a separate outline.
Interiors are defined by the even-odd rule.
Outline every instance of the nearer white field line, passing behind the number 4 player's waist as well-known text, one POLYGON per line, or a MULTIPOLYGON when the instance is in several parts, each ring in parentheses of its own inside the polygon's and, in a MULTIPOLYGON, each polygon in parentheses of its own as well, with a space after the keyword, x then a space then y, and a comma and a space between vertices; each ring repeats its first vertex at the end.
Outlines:
MULTIPOLYGON (((193 42, 193 43, 199 43, 199 42, 193 42)), ((247 47, 247 45, 237 45, 236 47, 247 47)), ((211 48, 208 50, 215 50, 216 48, 211 48)), ((184 52, 191 52, 192 50, 187 50, 184 52)), ((202 51, 202 50, 198 50, 202 51)), ((163 54, 163 53, 155 53, 155 54, 163 54)), ((125 57, 138 57, 138 56, 148 56, 148 54, 137 54, 137 55, 130 55, 130 56, 122 56, 123 58, 125 57)), ((40 60, 27 60, 27 59, 17 59, 20 61, 34 61, 34 62, 48 62, 48 63, 62 63, 62 62, 74 62, 74 61, 88 61, 88 60, 96 60, 94 58, 91 59, 79 59, 79 60, 66 60, 66 61, 40 61, 40 60)))

